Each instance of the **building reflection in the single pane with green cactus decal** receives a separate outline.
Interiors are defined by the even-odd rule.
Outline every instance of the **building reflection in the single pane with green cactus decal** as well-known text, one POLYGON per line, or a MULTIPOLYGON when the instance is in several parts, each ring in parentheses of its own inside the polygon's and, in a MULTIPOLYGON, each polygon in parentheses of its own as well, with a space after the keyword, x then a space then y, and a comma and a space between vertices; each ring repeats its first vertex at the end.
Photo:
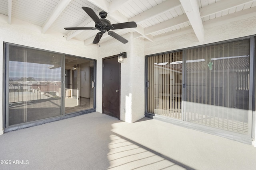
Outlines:
POLYGON ((244 99, 249 97, 249 59, 245 55, 187 62, 187 76, 196 77, 196 81, 188 80, 187 100, 194 96, 192 101, 196 103, 248 109, 248 101, 244 99))

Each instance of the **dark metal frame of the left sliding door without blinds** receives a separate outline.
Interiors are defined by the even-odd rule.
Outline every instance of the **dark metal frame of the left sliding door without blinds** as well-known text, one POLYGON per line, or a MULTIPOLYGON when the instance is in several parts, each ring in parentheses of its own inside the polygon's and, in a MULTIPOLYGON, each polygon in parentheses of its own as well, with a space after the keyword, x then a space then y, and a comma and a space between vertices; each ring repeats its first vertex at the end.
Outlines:
MULTIPOLYGON (((68 114, 65 115, 65 106, 64 106, 64 88, 65 88, 65 82, 64 82, 64 75, 65 75, 65 56, 66 54, 64 53, 58 53, 58 52, 54 52, 54 51, 48 51, 48 50, 44 50, 44 49, 38 49, 38 48, 34 48, 34 47, 27 47, 24 45, 17 45, 17 44, 13 44, 13 43, 8 43, 8 42, 4 42, 4 48, 3 48, 3 108, 2 108, 2 114, 3 114, 3 129, 4 129, 4 133, 9 132, 9 131, 14 131, 14 130, 18 130, 18 129, 23 129, 26 127, 32 127, 32 126, 36 126, 36 125, 41 125, 44 123, 49 123, 49 122, 53 122, 53 121, 58 121, 58 120, 62 120, 62 119, 67 119, 70 117, 75 117, 78 115, 83 115, 86 113, 91 113, 91 112, 95 112, 96 111, 96 60, 95 59, 89 59, 89 58, 84 58, 84 57, 78 57, 78 56, 74 56, 77 58, 83 58, 83 59, 88 59, 90 61, 94 62, 94 91, 93 91, 93 95, 94 95, 94 99, 93 99, 93 108, 90 109, 86 109, 86 110, 82 110, 82 111, 78 111, 72 114, 68 114), (38 119, 38 120, 34 120, 34 121, 29 121, 29 122, 25 122, 25 123, 19 123, 19 124, 15 124, 15 125, 10 125, 9 126, 9 47, 10 45, 16 46, 16 47, 22 47, 22 48, 26 48, 26 49, 33 49, 33 50, 38 50, 38 51, 45 51, 45 52, 51 52, 51 53, 57 53, 60 55, 61 57, 61 96, 60 96, 60 115, 55 116, 55 117, 48 117, 48 118, 44 118, 44 119, 38 119)), ((90 87, 92 88, 92 87, 90 87)))

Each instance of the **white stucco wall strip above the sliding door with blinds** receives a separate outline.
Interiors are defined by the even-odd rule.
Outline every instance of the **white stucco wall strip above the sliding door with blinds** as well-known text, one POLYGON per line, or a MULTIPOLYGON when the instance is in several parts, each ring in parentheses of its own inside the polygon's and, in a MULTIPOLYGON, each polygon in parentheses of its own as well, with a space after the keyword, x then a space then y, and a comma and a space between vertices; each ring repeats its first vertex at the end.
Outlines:
POLYGON ((240 21, 232 21, 229 23, 221 22, 214 26, 211 21, 204 23, 204 42, 199 43, 195 33, 191 29, 186 30, 184 34, 177 35, 176 33, 168 36, 167 39, 151 42, 145 40, 145 55, 195 47, 209 43, 215 43, 224 40, 230 40, 239 37, 256 34, 256 17, 250 17, 240 21), (177 35, 177 36, 175 36, 177 35))

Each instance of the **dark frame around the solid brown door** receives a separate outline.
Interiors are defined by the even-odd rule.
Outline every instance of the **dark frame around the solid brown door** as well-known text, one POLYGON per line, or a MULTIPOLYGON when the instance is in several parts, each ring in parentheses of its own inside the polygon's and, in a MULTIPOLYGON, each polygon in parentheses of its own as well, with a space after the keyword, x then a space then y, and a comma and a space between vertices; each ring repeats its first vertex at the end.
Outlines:
MULTIPOLYGON (((116 62, 118 59, 118 55, 112 55, 110 57, 104 57, 102 58, 102 113, 104 114, 104 60, 111 59, 116 57, 116 62)), ((121 108, 121 63, 120 63, 120 69, 119 69, 119 95, 118 95, 118 119, 120 120, 120 108, 121 108)))

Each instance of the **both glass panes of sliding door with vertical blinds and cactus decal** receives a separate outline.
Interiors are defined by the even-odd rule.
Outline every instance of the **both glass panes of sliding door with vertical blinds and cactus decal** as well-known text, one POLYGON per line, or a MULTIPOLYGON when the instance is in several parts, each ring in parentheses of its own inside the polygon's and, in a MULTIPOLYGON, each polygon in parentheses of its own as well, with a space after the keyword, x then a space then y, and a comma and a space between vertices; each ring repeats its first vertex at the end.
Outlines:
POLYGON ((250 135, 252 39, 146 57, 146 113, 250 135))

